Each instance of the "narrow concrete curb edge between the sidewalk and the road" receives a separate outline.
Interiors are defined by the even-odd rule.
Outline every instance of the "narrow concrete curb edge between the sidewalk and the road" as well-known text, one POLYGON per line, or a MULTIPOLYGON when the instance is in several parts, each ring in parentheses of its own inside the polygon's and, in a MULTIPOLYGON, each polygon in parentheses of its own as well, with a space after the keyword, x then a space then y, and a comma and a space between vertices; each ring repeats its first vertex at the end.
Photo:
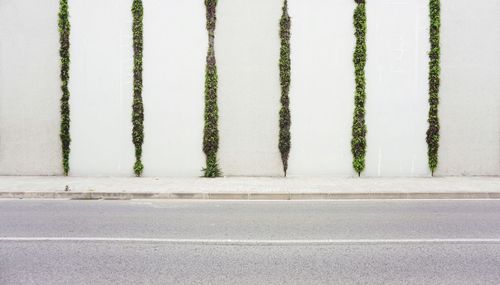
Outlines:
POLYGON ((500 192, 455 193, 157 193, 157 192, 0 192, 0 199, 69 200, 376 200, 500 199, 500 192))

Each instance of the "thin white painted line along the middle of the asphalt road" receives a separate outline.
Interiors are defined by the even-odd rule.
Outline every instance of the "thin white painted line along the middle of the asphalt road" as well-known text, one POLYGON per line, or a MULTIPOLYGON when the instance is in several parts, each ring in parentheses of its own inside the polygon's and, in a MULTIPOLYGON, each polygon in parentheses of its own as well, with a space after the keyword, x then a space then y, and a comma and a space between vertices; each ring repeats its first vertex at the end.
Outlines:
POLYGON ((105 237, 0 237, 0 242, 119 242, 162 243, 174 245, 369 245, 369 244, 500 244, 491 239, 312 239, 312 240, 245 240, 245 239, 166 239, 105 237))

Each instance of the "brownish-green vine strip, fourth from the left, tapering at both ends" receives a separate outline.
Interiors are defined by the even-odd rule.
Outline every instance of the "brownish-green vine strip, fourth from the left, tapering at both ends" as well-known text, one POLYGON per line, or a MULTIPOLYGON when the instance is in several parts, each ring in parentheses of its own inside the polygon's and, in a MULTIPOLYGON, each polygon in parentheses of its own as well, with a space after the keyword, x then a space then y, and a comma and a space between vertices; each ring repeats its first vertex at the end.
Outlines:
POLYGON ((283 171, 285 177, 288 170, 288 156, 290 154, 290 28, 291 21, 288 15, 288 1, 283 4, 283 14, 280 20, 280 82, 281 82, 281 109, 280 109, 280 139, 279 149, 281 161, 283 162, 283 171))

